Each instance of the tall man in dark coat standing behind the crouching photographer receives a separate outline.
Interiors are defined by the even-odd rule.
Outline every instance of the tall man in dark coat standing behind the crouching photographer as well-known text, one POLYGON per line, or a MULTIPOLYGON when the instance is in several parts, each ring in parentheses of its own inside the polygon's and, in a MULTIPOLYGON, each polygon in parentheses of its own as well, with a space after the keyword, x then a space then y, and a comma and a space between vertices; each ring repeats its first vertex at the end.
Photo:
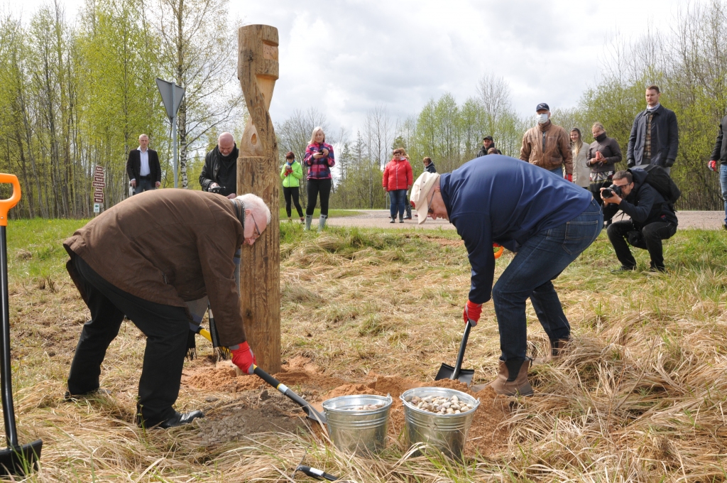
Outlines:
POLYGON ((670 172, 679 150, 677 116, 659 104, 659 87, 646 88, 646 111, 638 113, 631 127, 626 159, 630 168, 656 164, 670 172))

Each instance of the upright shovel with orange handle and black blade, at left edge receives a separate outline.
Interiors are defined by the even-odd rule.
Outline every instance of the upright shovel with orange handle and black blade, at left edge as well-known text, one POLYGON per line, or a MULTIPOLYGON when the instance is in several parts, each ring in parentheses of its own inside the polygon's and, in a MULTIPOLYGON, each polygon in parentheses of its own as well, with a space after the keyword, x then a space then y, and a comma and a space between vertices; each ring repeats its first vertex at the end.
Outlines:
POLYGON ((38 469, 43 442, 17 444, 15 408, 12 404, 12 371, 10 367, 10 311, 7 295, 7 212, 20 201, 20 183, 15 175, 0 173, 0 183, 12 183, 12 196, 0 200, 0 285, 2 300, 2 324, 0 327, 0 392, 2 415, 5 422, 7 448, 0 450, 0 475, 25 476, 38 469))

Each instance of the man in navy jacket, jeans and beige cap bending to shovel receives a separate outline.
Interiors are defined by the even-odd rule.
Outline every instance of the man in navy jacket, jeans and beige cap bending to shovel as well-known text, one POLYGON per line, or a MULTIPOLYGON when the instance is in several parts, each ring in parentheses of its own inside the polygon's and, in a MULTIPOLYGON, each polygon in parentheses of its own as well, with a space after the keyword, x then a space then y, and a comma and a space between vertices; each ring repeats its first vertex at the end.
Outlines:
MULTIPOLYGON (((449 220, 465 241, 472 266, 469 300, 462 314, 477 324, 492 298, 500 334, 498 394, 532 394, 526 356, 525 303, 530 298, 558 357, 571 327, 553 287, 555 279, 601 233, 603 215, 591 193, 532 164, 500 154, 492 163, 469 161, 451 173, 422 173, 411 204, 424 223, 449 220), (492 286, 492 244, 516 253, 492 286)), ((484 386, 478 386, 483 388, 484 386)))

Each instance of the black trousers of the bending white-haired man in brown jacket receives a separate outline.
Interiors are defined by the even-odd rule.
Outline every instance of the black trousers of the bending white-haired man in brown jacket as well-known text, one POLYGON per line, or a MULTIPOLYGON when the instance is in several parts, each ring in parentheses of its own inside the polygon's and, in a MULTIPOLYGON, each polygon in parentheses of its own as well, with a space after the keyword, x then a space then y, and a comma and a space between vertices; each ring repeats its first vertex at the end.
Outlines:
POLYGON ((146 335, 139 380, 137 420, 146 427, 174 416, 182 367, 187 353, 189 318, 182 307, 149 302, 113 286, 81 257, 73 263, 82 279, 91 320, 84 324, 68 375, 68 392, 84 394, 99 388, 106 349, 119 334, 124 315, 146 335))

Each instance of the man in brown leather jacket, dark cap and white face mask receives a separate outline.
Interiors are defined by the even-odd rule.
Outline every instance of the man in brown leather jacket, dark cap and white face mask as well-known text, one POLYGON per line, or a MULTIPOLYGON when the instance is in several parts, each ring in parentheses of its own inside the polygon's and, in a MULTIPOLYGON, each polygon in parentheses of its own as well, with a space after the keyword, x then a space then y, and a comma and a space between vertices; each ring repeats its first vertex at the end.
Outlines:
POLYGON ((531 127, 523 136, 520 148, 520 159, 547 169, 563 177, 563 165, 566 166, 566 180, 573 181, 573 153, 571 139, 560 126, 550 121, 550 107, 539 103, 537 112, 538 124, 531 127))

